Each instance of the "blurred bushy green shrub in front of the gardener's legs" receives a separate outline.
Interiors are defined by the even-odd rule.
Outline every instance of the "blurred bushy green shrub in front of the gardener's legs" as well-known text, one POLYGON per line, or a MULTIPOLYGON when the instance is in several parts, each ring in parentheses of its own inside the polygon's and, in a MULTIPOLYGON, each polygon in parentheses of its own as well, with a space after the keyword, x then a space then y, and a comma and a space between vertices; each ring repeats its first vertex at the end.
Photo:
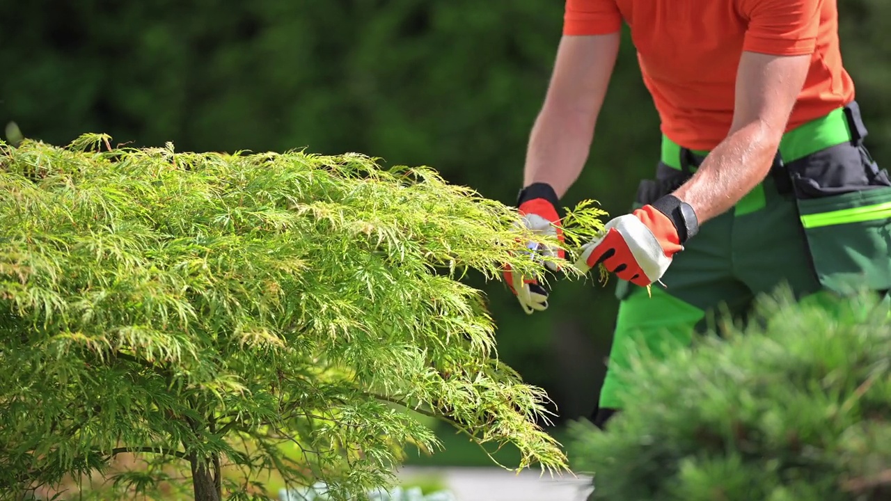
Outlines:
POLYGON ((891 498, 891 324, 867 295, 764 300, 664 362, 636 358, 625 413, 576 423, 573 468, 592 499, 879 501, 891 498))

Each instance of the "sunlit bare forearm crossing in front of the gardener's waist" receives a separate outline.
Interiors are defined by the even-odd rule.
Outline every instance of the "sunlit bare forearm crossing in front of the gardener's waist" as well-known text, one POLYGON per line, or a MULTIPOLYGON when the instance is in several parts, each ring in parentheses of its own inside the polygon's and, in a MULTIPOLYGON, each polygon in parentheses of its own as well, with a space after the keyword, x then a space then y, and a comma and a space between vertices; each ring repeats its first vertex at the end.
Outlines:
POLYGON ((770 172, 780 134, 762 123, 727 136, 674 196, 691 205, 699 224, 731 209, 770 172))

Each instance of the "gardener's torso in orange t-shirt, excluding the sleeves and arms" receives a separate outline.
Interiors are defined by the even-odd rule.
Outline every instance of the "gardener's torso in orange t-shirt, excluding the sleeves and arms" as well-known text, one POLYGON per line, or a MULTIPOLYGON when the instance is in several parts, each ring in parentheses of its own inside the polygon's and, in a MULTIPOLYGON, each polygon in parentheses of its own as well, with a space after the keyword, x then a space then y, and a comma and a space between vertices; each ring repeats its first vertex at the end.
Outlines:
MULTIPOLYGON (((731 126, 736 69, 749 26, 747 11, 759 0, 615 1, 631 27, 663 133, 694 150, 714 148, 731 126)), ((854 84, 838 49, 836 1, 820 4, 811 69, 789 128, 854 98, 854 84)))

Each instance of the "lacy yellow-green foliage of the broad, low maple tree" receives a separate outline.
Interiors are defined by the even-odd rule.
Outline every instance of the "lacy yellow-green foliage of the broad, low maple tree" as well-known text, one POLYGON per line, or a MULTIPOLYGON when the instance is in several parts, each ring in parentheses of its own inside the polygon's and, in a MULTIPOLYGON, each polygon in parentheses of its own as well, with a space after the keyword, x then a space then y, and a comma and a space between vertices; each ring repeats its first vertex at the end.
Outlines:
POLYGON ((497 360, 484 298, 459 280, 541 269, 519 251, 555 242, 508 207, 357 154, 106 136, 0 143, 0 184, 4 486, 135 452, 150 464, 116 473, 120 492, 179 462, 233 497, 274 469, 346 498, 388 485, 406 442, 437 447, 406 409, 511 443, 522 467, 565 466, 535 425, 544 392, 497 360))

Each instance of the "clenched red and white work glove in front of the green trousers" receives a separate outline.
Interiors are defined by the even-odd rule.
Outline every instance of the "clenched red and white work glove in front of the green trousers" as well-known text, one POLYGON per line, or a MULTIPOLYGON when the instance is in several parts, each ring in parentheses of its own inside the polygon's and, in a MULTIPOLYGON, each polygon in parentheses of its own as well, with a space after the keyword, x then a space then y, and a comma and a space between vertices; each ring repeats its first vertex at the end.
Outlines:
POLYGON ((674 254, 699 232, 699 221, 689 204, 666 195, 611 219, 604 230, 584 245, 576 267, 587 273, 602 262, 618 278, 643 287, 662 278, 674 254))

